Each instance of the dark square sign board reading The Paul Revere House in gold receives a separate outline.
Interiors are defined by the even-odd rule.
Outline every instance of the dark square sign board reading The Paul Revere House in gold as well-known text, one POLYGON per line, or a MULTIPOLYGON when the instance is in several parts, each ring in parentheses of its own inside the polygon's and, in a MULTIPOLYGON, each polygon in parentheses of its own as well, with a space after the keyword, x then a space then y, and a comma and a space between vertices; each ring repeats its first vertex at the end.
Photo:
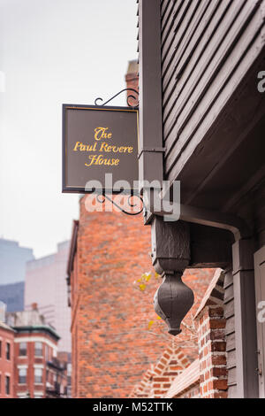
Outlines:
POLYGON ((63 192, 89 192, 88 181, 101 183, 106 193, 120 191, 115 182, 127 181, 125 192, 133 191, 133 181, 138 181, 138 110, 63 104, 63 192), (105 185, 106 173, 112 174, 111 189, 105 185))

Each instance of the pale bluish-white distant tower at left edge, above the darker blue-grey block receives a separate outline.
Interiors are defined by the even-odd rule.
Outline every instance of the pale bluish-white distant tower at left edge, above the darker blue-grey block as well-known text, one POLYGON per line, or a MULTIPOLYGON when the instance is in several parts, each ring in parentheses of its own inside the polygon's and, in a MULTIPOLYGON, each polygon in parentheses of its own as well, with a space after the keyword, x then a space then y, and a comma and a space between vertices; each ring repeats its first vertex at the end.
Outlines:
POLYGON ((20 247, 18 242, 0 238, 0 285, 24 281, 26 263, 33 258, 32 249, 20 247))

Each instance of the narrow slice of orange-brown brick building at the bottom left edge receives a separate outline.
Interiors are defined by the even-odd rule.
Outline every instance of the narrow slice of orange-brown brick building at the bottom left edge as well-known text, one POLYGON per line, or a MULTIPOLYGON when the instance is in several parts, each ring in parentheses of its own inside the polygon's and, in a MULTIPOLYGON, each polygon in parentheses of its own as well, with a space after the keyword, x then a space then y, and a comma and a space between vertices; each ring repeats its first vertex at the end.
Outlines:
POLYGON ((14 397, 14 334, 0 321, 0 398, 14 397))

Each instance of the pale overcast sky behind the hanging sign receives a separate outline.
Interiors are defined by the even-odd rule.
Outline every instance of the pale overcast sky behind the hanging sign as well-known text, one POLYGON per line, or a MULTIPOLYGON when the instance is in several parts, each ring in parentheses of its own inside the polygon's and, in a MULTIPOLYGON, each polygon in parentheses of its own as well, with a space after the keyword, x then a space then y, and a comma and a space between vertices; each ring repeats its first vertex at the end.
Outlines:
POLYGON ((0 236, 36 257, 79 216, 61 193, 61 105, 125 88, 136 23, 135 0, 0 0, 0 236))

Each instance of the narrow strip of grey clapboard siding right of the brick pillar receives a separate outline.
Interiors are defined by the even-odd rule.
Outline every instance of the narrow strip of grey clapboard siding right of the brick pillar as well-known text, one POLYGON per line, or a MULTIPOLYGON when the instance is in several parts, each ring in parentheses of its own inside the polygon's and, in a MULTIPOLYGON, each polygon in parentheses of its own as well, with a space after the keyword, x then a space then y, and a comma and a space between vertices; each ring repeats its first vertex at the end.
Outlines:
POLYGON ((231 271, 225 273, 224 278, 224 318, 226 319, 226 352, 228 370, 228 397, 237 397, 237 368, 235 342, 234 288, 231 271))

